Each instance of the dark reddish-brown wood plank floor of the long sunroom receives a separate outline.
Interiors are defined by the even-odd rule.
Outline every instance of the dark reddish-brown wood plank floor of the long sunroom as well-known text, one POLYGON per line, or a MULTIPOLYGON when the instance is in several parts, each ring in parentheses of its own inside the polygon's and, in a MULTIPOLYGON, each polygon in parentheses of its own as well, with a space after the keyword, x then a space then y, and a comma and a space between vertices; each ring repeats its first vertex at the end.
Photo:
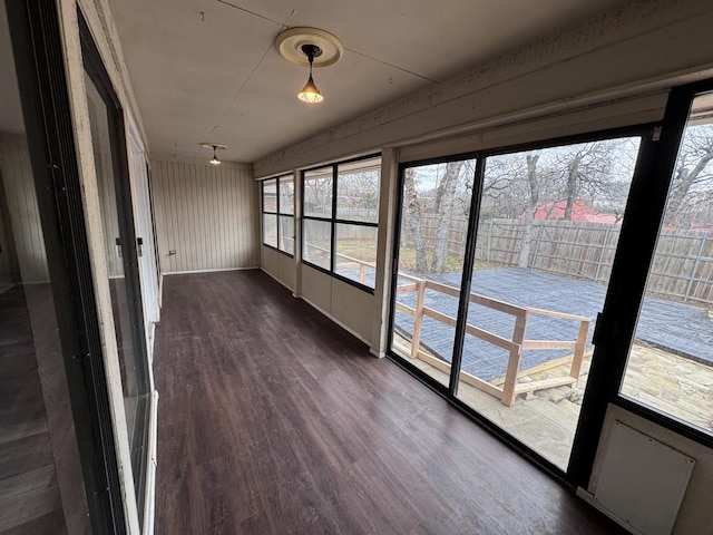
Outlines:
POLYGON ((164 292, 157 534, 615 532, 264 273, 164 292))

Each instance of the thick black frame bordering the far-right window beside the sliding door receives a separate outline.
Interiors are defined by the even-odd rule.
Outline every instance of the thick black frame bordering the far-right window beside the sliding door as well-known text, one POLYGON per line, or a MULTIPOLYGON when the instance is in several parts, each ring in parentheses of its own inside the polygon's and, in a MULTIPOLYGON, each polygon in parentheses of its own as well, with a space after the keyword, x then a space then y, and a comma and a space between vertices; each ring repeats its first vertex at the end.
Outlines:
POLYGON ((576 486, 588 484, 609 403, 713 448, 710 435, 619 393, 691 105, 696 95, 710 91, 713 91, 713 79, 673 88, 662 123, 653 136, 642 142, 637 166, 641 165, 638 174, 646 179, 632 183, 629 201, 634 202, 627 203, 609 291, 595 330, 596 348, 608 358, 596 362, 593 359, 589 369, 589 380, 600 383, 600 388, 585 393, 583 401, 580 421, 586 418, 587 426, 577 427, 568 469, 569 479, 576 486))

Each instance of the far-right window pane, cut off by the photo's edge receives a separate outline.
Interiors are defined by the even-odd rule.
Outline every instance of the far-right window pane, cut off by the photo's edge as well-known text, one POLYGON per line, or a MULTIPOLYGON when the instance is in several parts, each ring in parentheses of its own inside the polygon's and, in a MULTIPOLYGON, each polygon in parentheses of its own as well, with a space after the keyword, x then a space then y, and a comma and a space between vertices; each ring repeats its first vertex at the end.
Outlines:
POLYGON ((691 104, 622 397, 713 437, 713 91, 691 104))

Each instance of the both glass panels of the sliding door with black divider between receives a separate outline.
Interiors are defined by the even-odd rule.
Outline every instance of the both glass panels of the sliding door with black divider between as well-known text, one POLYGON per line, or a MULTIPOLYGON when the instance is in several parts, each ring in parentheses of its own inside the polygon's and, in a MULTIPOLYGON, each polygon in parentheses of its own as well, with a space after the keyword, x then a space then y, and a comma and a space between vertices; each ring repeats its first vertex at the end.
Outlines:
POLYGON ((401 168, 391 353, 563 473, 639 144, 401 168))

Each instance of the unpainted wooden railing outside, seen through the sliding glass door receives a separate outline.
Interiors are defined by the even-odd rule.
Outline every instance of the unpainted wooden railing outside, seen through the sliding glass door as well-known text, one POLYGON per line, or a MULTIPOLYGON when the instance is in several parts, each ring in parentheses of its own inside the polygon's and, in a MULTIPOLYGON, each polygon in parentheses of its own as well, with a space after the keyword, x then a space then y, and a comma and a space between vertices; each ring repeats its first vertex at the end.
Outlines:
MULTIPOLYGON (((409 292, 416 292, 416 305, 408 307, 404 303, 397 301, 397 309, 413 317, 413 333, 411 337, 411 348, 402 348, 402 351, 408 353, 412 359, 421 359, 429 364, 440 369, 441 371, 449 372, 450 363, 437 358, 428 351, 421 348, 421 325, 423 318, 431 318, 436 321, 445 323, 450 327, 456 327, 456 319, 447 315, 438 310, 431 309, 426 305, 426 291, 432 290, 434 292, 451 295, 456 299, 460 298, 460 291, 457 288, 448 286, 439 282, 419 279, 417 276, 399 273, 401 280, 410 281, 407 284, 397 286, 397 295, 409 292)), ((478 293, 470 294, 470 302, 476 303, 489 309, 497 310, 499 312, 510 314, 515 318, 515 327, 512 329, 512 335, 508 339, 496 334, 494 332, 480 329, 470 323, 466 324, 466 333, 472 337, 485 340, 498 348, 502 348, 508 351, 508 363, 505 373, 505 378, 501 381, 485 381, 465 370, 460 370, 460 379, 485 392, 490 393, 500 399, 500 401, 511 407, 515 402, 515 397, 518 395, 525 395, 535 390, 541 390, 545 388, 558 387, 563 385, 573 385, 577 382, 579 373, 582 371, 582 361, 587 342, 587 333, 589 331, 589 323, 592 320, 582 315, 567 314, 563 312, 554 312, 550 310, 535 309, 531 307, 519 307, 516 304, 506 303, 505 301, 498 301, 490 299, 478 293), (527 321, 530 315, 546 315, 550 318, 559 318, 565 320, 573 320, 579 322, 579 330, 575 340, 526 340, 525 332, 527 329, 527 321), (520 373, 520 360, 522 351, 529 349, 538 350, 561 350, 570 349, 573 354, 565 359, 556 359, 553 362, 553 367, 559 366, 564 362, 570 361, 569 373, 565 377, 555 377, 550 379, 543 379, 538 381, 530 381, 518 383, 517 379, 520 373)))

